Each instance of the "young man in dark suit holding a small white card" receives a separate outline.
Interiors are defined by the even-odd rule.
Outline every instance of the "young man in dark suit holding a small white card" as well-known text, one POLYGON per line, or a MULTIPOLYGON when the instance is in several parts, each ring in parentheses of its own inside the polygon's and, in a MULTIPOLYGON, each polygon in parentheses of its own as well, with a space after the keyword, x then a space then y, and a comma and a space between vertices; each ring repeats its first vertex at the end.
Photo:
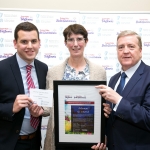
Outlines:
POLYGON ((40 39, 37 27, 29 22, 14 32, 17 53, 0 61, 0 150, 40 150, 43 109, 29 97, 26 66, 31 65, 34 88, 45 89, 46 64, 35 59, 40 39), (36 126, 31 117, 38 120, 36 126))

